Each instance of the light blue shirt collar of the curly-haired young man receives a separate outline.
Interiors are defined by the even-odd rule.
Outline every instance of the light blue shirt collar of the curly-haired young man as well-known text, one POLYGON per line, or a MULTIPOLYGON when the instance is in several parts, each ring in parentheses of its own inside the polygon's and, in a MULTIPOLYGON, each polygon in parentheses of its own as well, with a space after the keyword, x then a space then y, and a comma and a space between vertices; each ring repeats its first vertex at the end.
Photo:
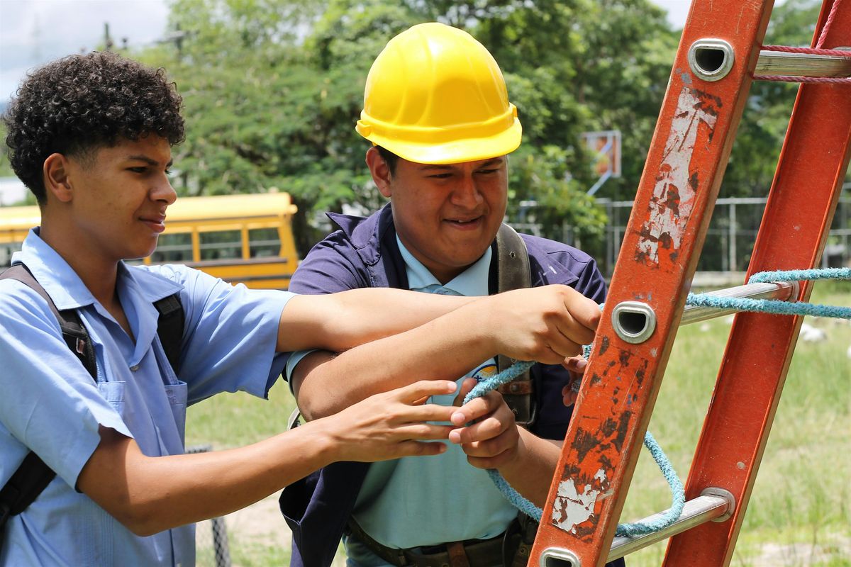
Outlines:
MULTIPOLYGON (((95 303, 92 292, 71 266, 38 235, 38 228, 30 230, 20 249, 12 256, 12 264, 26 264, 39 284, 48 292, 56 309, 80 309, 95 303)), ((132 286, 148 303, 166 298, 182 289, 174 281, 146 270, 130 269, 118 264, 118 286, 132 286)))

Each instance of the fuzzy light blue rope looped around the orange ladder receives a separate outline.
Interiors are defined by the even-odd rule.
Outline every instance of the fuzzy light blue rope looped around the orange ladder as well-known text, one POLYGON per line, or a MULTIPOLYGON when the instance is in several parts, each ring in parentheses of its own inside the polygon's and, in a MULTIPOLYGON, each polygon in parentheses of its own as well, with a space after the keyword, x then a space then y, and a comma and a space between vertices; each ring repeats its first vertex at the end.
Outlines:
MULTIPOLYGON (((831 269, 792 269, 788 271, 759 272, 748 280, 748 283, 776 282, 776 281, 812 281, 812 280, 851 280, 851 268, 831 269)), ((830 305, 814 305, 811 303, 788 303, 771 299, 749 299, 749 298, 724 298, 710 296, 705 293, 689 293, 686 298, 687 305, 700 305, 702 307, 713 307, 718 309, 735 309, 737 311, 751 311, 760 313, 772 313, 775 315, 813 315, 817 317, 835 317, 851 320, 851 308, 833 307, 830 305)), ((603 306, 601 305, 601 308, 603 306)), ((587 359, 591 354, 591 345, 583 346, 583 354, 587 359)), ((515 377, 527 371, 534 362, 519 361, 506 368, 504 371, 483 380, 471 389, 466 395, 464 403, 482 397, 491 390, 499 388, 502 384, 509 383, 515 377)), ((574 382, 574 389, 578 389, 579 381, 574 382)), ((615 531, 617 536, 642 536, 654 531, 662 530, 673 524, 683 513, 685 505, 685 490, 683 483, 677 476, 677 472, 671 465, 671 461, 662 451, 656 439, 648 431, 644 435, 644 446, 648 448, 654 461, 659 466, 668 485, 671 487, 671 507, 665 510, 659 518, 648 522, 636 522, 634 524, 618 524, 615 531)), ((493 468, 488 469, 488 476, 494 481, 494 485, 502 492, 503 496, 518 510, 540 522, 541 509, 521 496, 514 490, 502 475, 493 468)))

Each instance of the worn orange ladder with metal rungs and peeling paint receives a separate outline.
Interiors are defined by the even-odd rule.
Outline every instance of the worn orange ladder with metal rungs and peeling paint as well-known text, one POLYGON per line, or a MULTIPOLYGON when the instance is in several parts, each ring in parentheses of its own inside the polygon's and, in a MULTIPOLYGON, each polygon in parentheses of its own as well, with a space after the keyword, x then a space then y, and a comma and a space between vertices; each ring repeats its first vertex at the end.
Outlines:
MULTIPOLYGON (((830 25, 820 47, 851 46, 851 3, 831 14, 840 1, 825 0, 816 37, 830 25)), ((683 521, 641 546, 613 539, 752 77, 778 64, 761 54, 771 8, 771 0, 692 3, 530 567, 601 567, 625 547, 672 534, 666 566, 730 563, 798 316, 737 315, 688 474, 683 521)), ((799 71, 775 74, 813 76, 799 71)), ((849 154, 851 84, 802 84, 749 276, 818 265, 849 154)), ((810 292, 802 283, 792 299, 807 301, 810 292)))

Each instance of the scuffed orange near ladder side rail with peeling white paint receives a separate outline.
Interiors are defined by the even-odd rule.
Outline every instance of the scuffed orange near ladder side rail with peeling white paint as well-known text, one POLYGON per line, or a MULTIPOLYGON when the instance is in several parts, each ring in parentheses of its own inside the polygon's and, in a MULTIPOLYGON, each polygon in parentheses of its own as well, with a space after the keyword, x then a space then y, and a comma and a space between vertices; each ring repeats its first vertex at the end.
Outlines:
POLYGON ((772 4, 692 4, 530 565, 605 563, 772 4), (725 39, 734 57, 727 76, 710 82, 691 71, 688 53, 694 41, 714 37, 725 39), (653 310, 655 330, 643 343, 615 332, 614 308, 626 301, 653 310))

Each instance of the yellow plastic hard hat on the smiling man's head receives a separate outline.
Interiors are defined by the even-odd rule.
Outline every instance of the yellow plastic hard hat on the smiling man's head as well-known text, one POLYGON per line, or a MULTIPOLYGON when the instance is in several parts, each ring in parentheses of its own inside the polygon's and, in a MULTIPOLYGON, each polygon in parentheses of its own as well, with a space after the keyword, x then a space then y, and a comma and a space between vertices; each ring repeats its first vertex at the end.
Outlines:
POLYGON ((500 66, 469 33, 436 22, 393 37, 367 76, 357 133, 410 162, 504 156, 522 128, 500 66))

